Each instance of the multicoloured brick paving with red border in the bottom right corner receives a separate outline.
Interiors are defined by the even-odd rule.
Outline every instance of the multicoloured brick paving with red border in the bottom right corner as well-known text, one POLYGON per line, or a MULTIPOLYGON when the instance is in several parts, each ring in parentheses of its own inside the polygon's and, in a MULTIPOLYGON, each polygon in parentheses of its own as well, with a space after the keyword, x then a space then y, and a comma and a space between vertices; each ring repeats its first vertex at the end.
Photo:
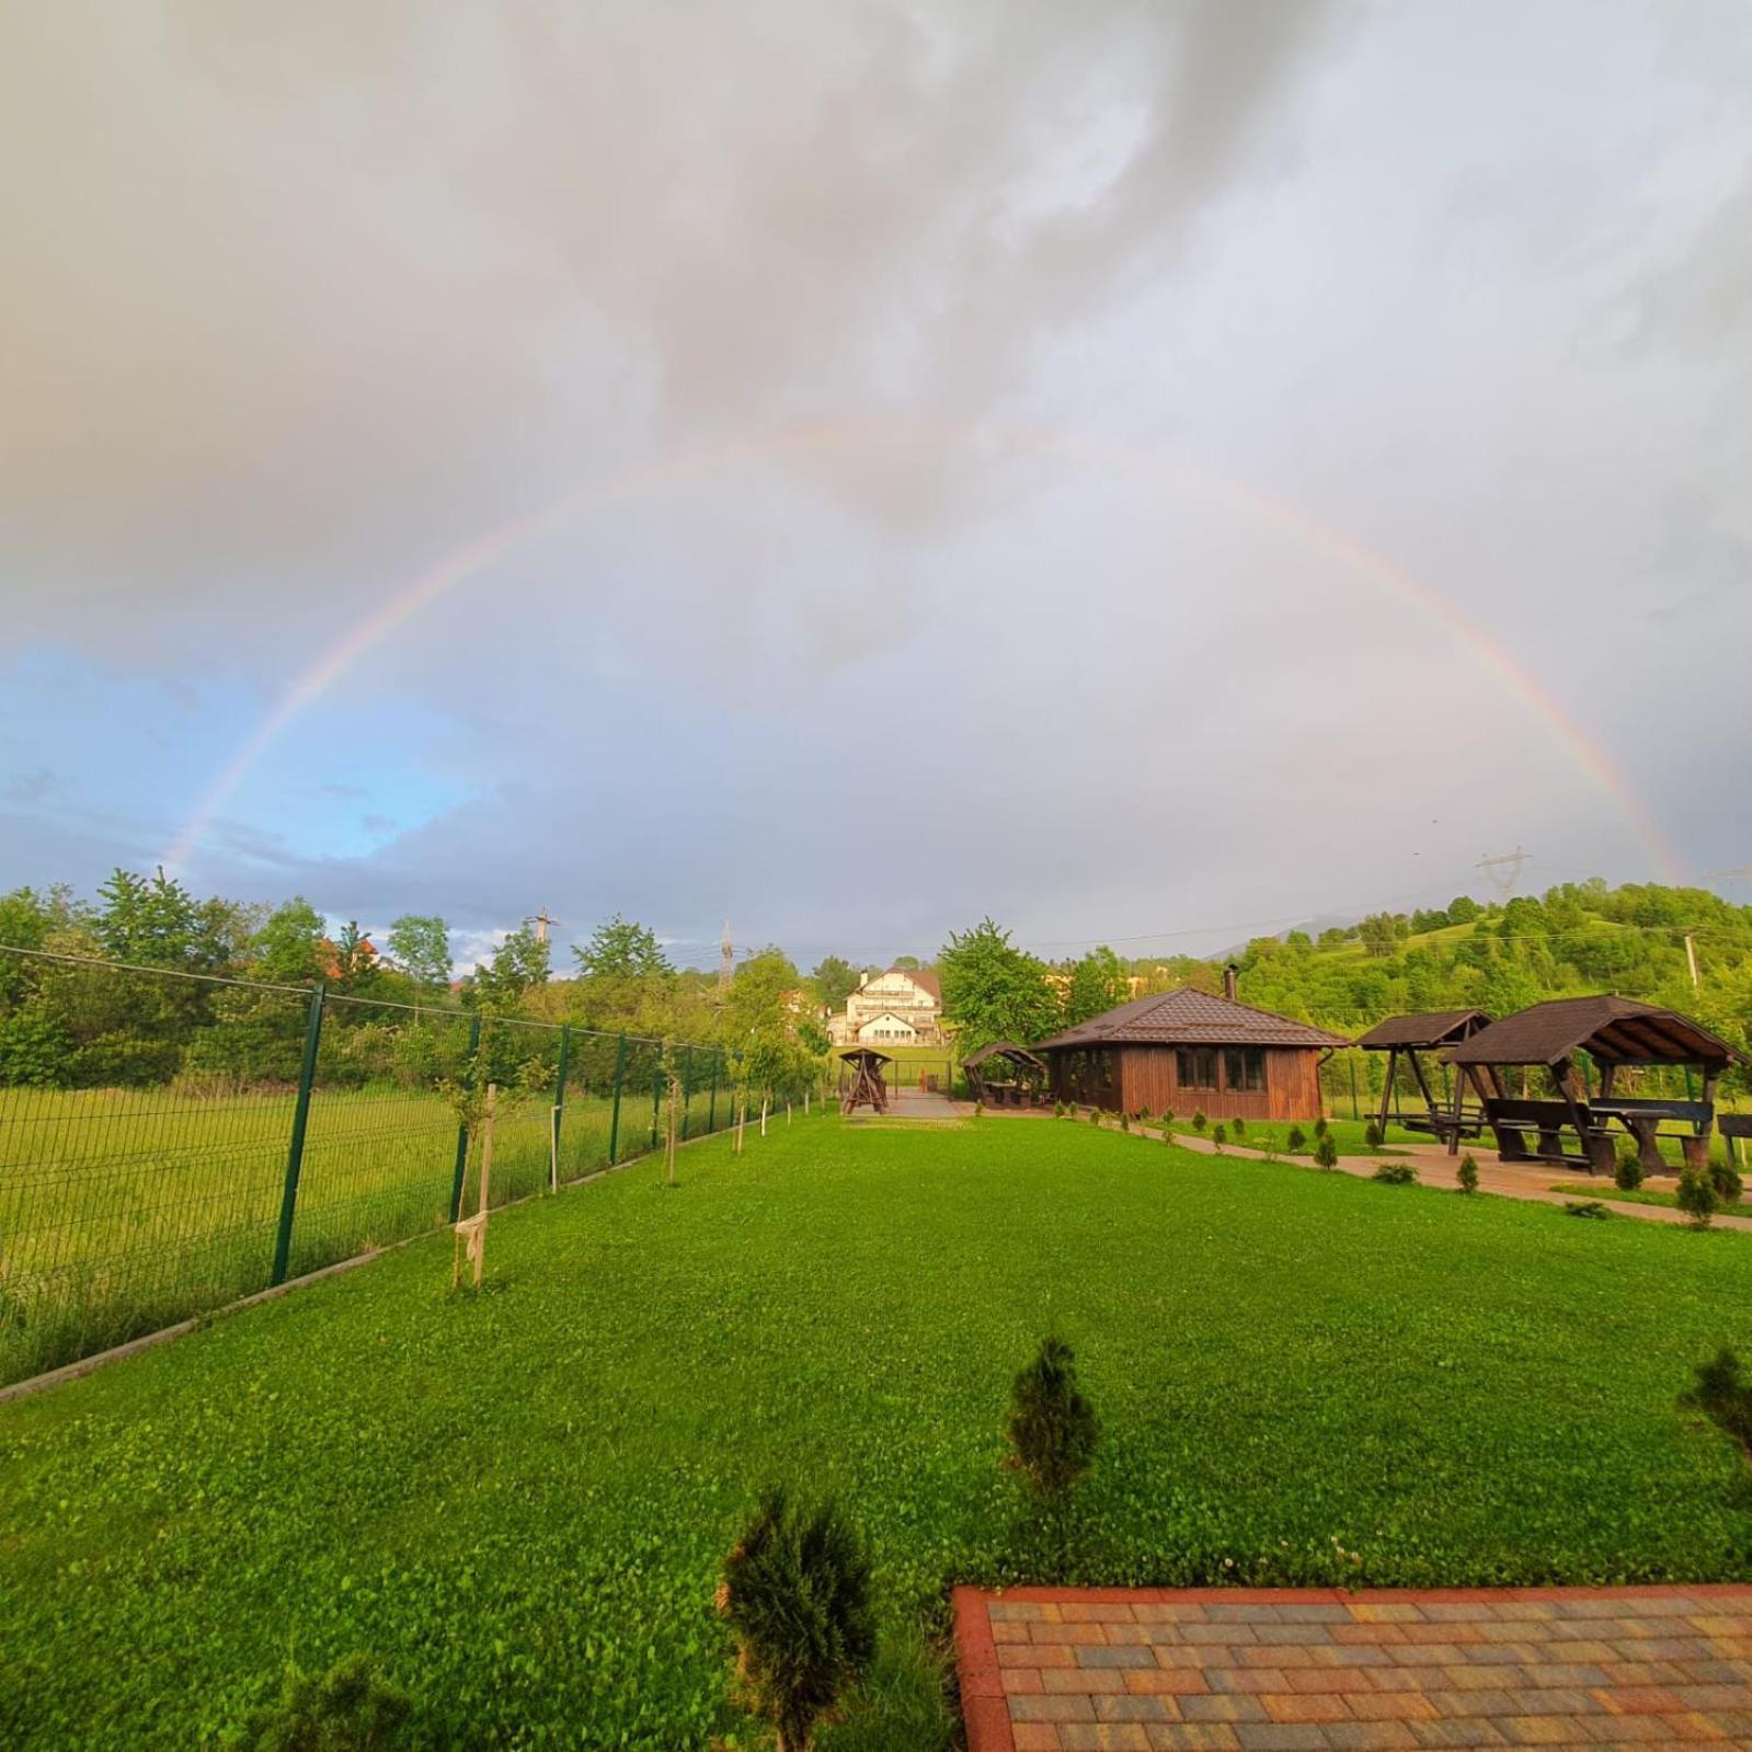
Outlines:
POLYGON ((1752 1587, 955 1591, 969 1752, 1752 1747, 1752 1587))

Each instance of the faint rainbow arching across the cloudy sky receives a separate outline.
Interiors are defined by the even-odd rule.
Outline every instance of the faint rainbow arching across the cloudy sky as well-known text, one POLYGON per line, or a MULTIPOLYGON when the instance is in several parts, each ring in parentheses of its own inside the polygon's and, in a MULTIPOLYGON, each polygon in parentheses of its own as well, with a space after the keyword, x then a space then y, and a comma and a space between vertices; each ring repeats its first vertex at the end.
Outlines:
POLYGON ((1635 794, 1629 781, 1614 766, 1608 752, 1587 734, 1561 701, 1545 692, 1537 678, 1475 620, 1468 618, 1445 596, 1423 583, 1384 554, 1249 482, 1190 466, 1160 450, 1100 443, 1053 427, 943 424, 911 417, 797 422, 727 443, 639 463, 601 480, 585 482, 550 505, 499 524, 487 534, 470 541, 468 547, 442 559, 429 571, 420 573, 387 597, 377 613, 356 622, 345 638, 326 650, 293 682, 201 794, 194 813, 165 853, 165 865, 170 869, 187 865, 212 827, 214 818, 237 794, 268 748, 273 746, 294 718, 315 704, 361 657, 457 585, 496 564, 519 543, 566 519, 601 512, 620 499, 673 485, 697 475, 715 473, 736 463, 781 457, 795 450, 858 445, 872 440, 892 443, 895 438, 930 447, 983 445, 999 452, 1041 454, 1081 463, 1109 475, 1146 478, 1158 485, 1169 484, 1223 505, 1240 517, 1261 520, 1293 534, 1316 552, 1335 559, 1382 594, 1412 604, 1442 627, 1456 645, 1475 659, 1486 675, 1545 725, 1559 746, 1568 750, 1587 781, 1622 815, 1663 880, 1673 883, 1685 880, 1684 860, 1668 843, 1659 823, 1635 794))

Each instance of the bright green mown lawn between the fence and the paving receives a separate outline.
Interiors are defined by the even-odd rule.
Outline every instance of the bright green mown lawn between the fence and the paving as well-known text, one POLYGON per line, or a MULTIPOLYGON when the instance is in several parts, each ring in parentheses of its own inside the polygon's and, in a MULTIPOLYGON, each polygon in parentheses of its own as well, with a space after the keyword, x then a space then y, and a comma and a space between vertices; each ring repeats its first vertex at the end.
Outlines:
POLYGON ((0 1743, 210 1743, 366 1649, 452 1745, 748 1747, 711 1612, 766 1480, 867 1528, 830 1752, 946 1743, 955 1580, 1041 1579, 1000 1466, 1048 1326, 1106 1426, 1069 1579, 1752 1579, 1673 1405, 1752 1247, 1086 1123, 816 1118, 524 1205, 0 1405, 0 1743), (736 1740, 729 1736, 736 1734, 736 1740))

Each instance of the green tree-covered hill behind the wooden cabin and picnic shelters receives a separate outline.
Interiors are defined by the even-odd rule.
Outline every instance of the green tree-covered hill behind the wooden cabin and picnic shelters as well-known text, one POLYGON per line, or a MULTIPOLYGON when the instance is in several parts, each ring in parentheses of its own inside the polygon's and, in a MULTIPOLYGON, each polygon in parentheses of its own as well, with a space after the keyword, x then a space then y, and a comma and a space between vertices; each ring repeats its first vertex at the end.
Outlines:
MULTIPOLYGON (((1477 1006, 1507 1016, 1547 997, 1617 992, 1696 1016, 1752 1048, 1752 906, 1703 888, 1565 883, 1538 899, 1375 913, 1318 937, 1256 937, 1240 997, 1354 1034, 1400 1011, 1477 1006), (1692 986, 1685 936, 1696 946, 1692 986)), ((1216 962, 1132 962, 1151 985, 1221 990, 1216 962)))

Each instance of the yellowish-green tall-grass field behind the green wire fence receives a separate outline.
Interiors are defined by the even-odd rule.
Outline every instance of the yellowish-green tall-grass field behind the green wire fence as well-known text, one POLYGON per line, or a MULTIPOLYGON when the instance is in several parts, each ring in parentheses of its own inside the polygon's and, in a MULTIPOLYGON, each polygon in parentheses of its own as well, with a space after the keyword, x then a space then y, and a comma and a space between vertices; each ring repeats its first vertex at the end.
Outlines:
MULTIPOLYGON (((0 1382, 265 1288, 293 1106, 291 1090, 0 1090, 0 1382)), ((694 1132, 727 1114, 722 1090, 689 1104, 694 1132)), ((562 1179, 608 1160, 610 1123, 610 1100, 568 1093, 562 1179)), ((506 1109, 494 1204, 548 1184, 550 1125, 545 1099, 506 1109)), ((629 1090, 618 1153, 648 1148, 650 1134, 650 1090, 629 1090)), ((456 1141, 457 1116, 436 1093, 319 1086, 289 1272, 445 1223, 456 1141)))

